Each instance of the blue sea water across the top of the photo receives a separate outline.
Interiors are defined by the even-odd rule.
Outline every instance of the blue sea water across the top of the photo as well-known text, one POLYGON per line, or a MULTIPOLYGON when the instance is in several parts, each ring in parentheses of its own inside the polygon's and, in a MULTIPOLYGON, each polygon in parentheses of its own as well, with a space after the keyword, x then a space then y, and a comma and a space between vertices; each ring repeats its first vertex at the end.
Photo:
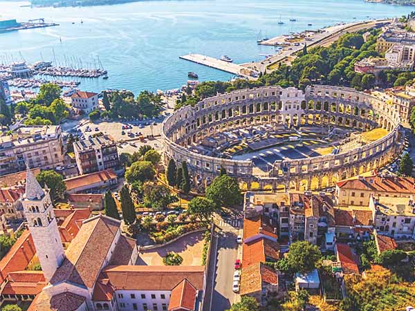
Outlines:
POLYGON ((44 18, 60 26, 0 33, 0 63, 43 59, 96 67, 99 56, 109 79, 80 79, 79 88, 126 88, 134 93, 178 88, 187 82, 189 71, 198 73, 201 80, 231 78, 228 73, 178 59, 181 55, 228 55, 236 63, 251 62, 264 58, 260 54, 274 52, 273 47, 258 46, 259 37, 400 17, 415 10, 364 0, 140 1, 81 8, 25 5, 0 1, 0 19, 44 18), (278 24, 280 20, 284 25, 278 24))

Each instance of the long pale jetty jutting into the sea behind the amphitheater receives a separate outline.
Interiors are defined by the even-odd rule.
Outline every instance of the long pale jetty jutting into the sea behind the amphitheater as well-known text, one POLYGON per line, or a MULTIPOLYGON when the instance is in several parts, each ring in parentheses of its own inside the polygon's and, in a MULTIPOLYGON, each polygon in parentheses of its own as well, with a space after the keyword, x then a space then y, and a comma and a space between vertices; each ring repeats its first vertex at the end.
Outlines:
POLYGON ((258 77, 258 73, 255 70, 251 70, 241 65, 225 62, 221 59, 216 59, 206 55, 188 54, 180 56, 179 58, 185 59, 189 62, 194 62, 196 64, 201 64, 203 66, 208 66, 210 68, 219 69, 225 71, 225 73, 232 73, 234 75, 246 77, 247 79, 257 79, 258 77))

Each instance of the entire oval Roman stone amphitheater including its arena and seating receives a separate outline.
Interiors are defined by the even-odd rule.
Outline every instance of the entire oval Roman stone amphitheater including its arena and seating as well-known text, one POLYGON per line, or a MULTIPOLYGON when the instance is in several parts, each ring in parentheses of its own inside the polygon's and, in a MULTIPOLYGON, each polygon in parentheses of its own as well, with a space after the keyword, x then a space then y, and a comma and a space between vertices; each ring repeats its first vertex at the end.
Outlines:
POLYGON ((306 190, 383 167, 402 150, 401 134, 398 112, 367 93, 268 86, 183 107, 161 135, 165 164, 186 161, 195 189, 223 168, 243 189, 306 190), (365 140, 374 131, 382 135, 365 140))

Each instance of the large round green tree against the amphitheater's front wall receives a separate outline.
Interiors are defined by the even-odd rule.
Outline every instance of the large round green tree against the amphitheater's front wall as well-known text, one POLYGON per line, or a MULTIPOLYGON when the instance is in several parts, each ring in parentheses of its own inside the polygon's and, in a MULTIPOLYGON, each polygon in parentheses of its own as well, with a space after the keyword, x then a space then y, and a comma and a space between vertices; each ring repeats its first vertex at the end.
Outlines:
POLYGON ((206 189, 206 198, 212 200, 216 207, 232 207, 241 202, 241 189, 234 178, 218 176, 206 189))

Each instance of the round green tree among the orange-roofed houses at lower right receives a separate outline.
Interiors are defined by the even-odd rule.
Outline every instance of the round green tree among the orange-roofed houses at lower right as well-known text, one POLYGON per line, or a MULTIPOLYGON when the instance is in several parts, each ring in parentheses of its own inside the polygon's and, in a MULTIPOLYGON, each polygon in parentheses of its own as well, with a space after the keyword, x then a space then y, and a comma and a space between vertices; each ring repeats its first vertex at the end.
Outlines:
POLYGON ((315 269, 315 263, 322 257, 317 245, 308 241, 297 241, 290 245, 286 261, 295 272, 306 273, 315 269))

